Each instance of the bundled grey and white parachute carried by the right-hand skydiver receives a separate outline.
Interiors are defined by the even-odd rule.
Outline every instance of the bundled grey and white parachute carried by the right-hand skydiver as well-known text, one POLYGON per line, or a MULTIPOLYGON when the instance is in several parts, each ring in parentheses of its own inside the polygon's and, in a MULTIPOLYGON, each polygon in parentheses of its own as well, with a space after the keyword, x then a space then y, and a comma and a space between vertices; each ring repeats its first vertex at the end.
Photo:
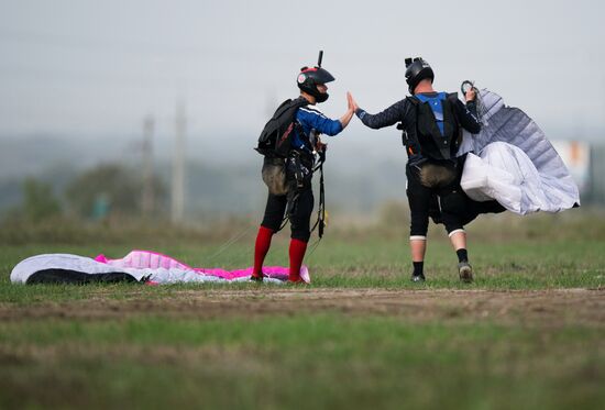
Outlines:
POLYGON ((485 89, 479 111, 482 131, 464 131, 458 153, 468 153, 460 185, 471 199, 495 199, 518 214, 580 206, 576 184, 531 118, 485 89))

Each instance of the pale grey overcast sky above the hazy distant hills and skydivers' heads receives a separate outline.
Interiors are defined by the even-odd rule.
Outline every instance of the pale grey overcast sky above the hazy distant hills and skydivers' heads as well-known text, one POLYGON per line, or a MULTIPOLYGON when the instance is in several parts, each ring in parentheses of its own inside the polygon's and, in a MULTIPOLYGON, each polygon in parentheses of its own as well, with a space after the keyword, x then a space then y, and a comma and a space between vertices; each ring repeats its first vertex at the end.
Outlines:
POLYGON ((370 112, 402 99, 404 58, 422 56, 438 89, 473 79, 548 135, 602 138, 603 4, 0 0, 0 137, 133 134, 147 113, 169 134, 177 100, 188 135, 255 137, 321 48, 332 118, 346 90, 370 112))

